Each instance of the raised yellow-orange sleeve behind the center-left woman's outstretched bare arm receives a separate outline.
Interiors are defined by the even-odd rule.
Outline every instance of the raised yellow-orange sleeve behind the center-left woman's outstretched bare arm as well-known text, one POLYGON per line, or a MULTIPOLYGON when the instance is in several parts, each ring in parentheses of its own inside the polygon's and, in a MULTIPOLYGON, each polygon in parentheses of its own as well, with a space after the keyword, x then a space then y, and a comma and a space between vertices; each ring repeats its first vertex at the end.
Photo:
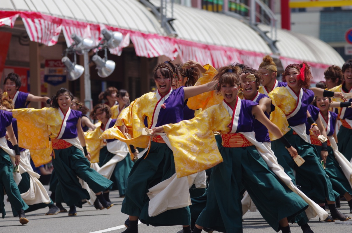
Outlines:
MULTIPOLYGON (((209 64, 205 65, 204 68, 207 71, 203 74, 203 77, 198 79, 198 81, 194 86, 199 86, 199 85, 208 83, 213 80, 216 74, 218 74, 218 71, 216 71, 216 69, 209 64)), ((187 106, 193 110, 202 108, 204 111, 205 109, 211 106, 221 103, 223 99, 224 98, 222 97, 222 95, 216 94, 216 90, 213 90, 211 92, 205 92, 205 93, 190 97, 188 99, 187 106)))

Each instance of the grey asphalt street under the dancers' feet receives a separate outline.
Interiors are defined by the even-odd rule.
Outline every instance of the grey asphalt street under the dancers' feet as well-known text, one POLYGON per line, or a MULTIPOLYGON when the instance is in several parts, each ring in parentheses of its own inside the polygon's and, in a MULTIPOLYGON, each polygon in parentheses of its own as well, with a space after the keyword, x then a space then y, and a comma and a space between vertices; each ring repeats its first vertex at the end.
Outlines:
MULTIPOLYGON (((46 186, 46 188, 48 188, 46 186)), ((49 208, 39 209, 26 214, 29 223, 21 225, 18 217, 13 217, 11 206, 6 202, 5 196, 5 219, 0 220, 1 233, 120 233, 126 228, 123 226, 127 215, 122 214, 118 191, 110 194, 114 206, 110 209, 95 210, 93 206, 84 204, 82 209, 77 208, 77 216, 68 216, 68 213, 45 215, 49 208)), ((67 208, 68 209, 68 208, 67 208)), ((340 211, 349 214, 346 201, 341 202, 340 211)), ((351 233, 352 219, 346 222, 335 221, 331 223, 320 222, 318 218, 311 219, 309 225, 315 233, 351 233)), ((153 227, 142 223, 138 225, 139 233, 176 233, 181 226, 153 227)), ((203 231, 204 232, 204 231, 203 231)), ((260 213, 248 212, 244 215, 244 233, 275 233, 265 222, 260 213)), ((291 225, 292 233, 301 233, 297 224, 291 225)))

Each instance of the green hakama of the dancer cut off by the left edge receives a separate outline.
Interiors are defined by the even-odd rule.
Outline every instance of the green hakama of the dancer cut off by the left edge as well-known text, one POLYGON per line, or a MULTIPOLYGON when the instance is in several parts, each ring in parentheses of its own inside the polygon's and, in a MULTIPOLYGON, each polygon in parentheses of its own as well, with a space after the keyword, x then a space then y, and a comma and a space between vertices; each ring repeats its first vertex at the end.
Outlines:
POLYGON ((2 218, 5 218, 4 190, 13 209, 18 212, 21 209, 28 209, 27 204, 21 198, 17 184, 13 180, 13 165, 8 155, 0 147, 0 210, 2 218))

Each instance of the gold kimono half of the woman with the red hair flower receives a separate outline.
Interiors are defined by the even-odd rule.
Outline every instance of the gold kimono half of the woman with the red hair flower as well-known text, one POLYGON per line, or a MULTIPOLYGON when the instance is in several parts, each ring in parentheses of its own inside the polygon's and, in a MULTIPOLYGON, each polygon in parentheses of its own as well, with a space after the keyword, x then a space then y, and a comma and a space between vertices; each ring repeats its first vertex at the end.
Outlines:
MULTIPOLYGON (((272 104, 275 106, 274 112, 270 113, 270 121, 277 125, 283 134, 286 134, 290 131, 286 115, 294 111, 297 101, 286 87, 275 88, 269 93, 269 97, 272 104)), ((269 137, 272 141, 277 139, 270 131, 269 137)))

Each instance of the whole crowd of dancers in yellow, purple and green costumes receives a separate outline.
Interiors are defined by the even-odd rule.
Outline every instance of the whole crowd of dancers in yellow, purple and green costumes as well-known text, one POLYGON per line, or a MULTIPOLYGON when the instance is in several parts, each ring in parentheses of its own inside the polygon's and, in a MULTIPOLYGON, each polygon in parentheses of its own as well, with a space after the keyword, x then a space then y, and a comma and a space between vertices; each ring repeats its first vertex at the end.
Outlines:
POLYGON ((109 209, 109 191, 118 190, 124 233, 138 233, 138 221, 182 225, 183 233, 242 232, 248 209, 283 233, 289 223, 314 232, 315 216, 351 219, 335 201, 343 196, 352 213, 352 60, 327 68, 322 88, 311 87, 306 62, 288 65, 285 82, 277 81, 270 56, 258 69, 170 60, 153 72, 156 92, 130 103, 126 90, 109 87, 91 110, 67 89, 34 96, 18 91, 17 74, 6 76, 2 218, 5 194, 26 224, 25 212, 67 212, 63 203, 69 216, 84 202, 109 209), (50 107, 26 108, 29 101, 50 107), (31 160, 52 162, 50 197, 31 160))

